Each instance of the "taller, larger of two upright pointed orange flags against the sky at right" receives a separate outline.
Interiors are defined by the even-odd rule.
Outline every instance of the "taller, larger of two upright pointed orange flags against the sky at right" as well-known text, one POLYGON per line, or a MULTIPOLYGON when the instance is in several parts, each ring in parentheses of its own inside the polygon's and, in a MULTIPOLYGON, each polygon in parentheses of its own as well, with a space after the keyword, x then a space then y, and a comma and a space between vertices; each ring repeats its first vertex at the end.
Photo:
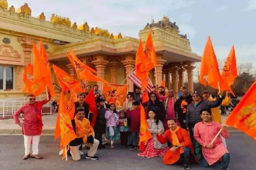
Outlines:
POLYGON ((203 85, 207 85, 204 80, 204 76, 208 78, 208 85, 212 88, 219 89, 220 91, 230 91, 230 86, 224 82, 218 69, 218 62, 215 56, 211 38, 208 37, 207 43, 204 48, 204 53, 202 55, 200 77, 199 82, 203 85))

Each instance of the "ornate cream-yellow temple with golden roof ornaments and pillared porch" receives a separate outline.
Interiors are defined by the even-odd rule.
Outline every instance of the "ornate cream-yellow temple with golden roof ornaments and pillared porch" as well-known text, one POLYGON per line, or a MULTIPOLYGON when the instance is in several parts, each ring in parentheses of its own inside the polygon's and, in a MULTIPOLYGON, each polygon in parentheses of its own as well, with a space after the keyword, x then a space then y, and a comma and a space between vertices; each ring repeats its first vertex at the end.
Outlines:
MULTIPOLYGON (((52 14, 49 21, 44 12, 38 17, 31 16, 32 9, 25 3, 17 10, 8 8, 7 0, 0 0, 0 98, 24 96, 22 75, 26 64, 33 62, 32 43, 39 46, 42 38, 49 62, 76 76, 76 71, 66 57, 72 48, 81 61, 94 68, 97 75, 108 82, 120 84, 134 70, 135 56, 139 39, 113 35, 108 30, 89 23, 78 26, 68 17, 52 14)), ((192 52, 186 35, 179 34, 179 27, 168 17, 152 23, 145 23, 139 31, 139 37, 145 43, 148 32, 152 31, 157 54, 156 69, 152 69, 149 78, 154 85, 165 80, 166 87, 177 93, 184 83, 184 71, 187 72, 188 89, 193 91, 193 63, 201 57, 192 52)), ((55 77, 53 82, 57 83, 55 77)), ((98 84, 102 82, 82 82, 98 84)), ((134 84, 129 80, 129 91, 134 84)))

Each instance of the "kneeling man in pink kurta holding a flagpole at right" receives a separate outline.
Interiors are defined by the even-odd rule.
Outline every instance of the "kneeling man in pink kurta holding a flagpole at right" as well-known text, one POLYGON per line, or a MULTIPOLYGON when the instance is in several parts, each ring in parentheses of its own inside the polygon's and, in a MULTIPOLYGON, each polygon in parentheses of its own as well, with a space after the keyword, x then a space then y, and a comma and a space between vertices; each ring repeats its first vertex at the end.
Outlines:
POLYGON ((202 146, 204 156, 202 164, 204 167, 220 166, 223 170, 227 170, 230 163, 230 154, 227 147, 224 146, 221 136, 227 139, 229 134, 224 126, 221 126, 218 122, 212 122, 210 110, 203 109, 201 118, 203 121, 195 124, 194 138, 202 146), (211 144, 212 139, 220 129, 222 129, 221 136, 219 135, 211 144))

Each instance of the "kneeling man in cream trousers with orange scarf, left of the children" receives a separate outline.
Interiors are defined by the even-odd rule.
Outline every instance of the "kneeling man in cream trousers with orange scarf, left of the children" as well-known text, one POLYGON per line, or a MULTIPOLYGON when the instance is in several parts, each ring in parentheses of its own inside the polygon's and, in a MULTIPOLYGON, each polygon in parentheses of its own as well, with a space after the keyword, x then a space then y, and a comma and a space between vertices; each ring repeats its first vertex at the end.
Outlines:
POLYGON ((97 148, 99 146, 99 141, 94 139, 93 127, 90 126, 88 119, 84 118, 85 113, 83 109, 78 109, 76 111, 76 116, 71 123, 73 125, 74 131, 77 138, 70 142, 70 153, 72 159, 78 161, 81 159, 81 151, 79 147, 82 143, 87 143, 90 147, 90 150, 86 154, 87 159, 96 160, 98 157, 95 156, 97 148))

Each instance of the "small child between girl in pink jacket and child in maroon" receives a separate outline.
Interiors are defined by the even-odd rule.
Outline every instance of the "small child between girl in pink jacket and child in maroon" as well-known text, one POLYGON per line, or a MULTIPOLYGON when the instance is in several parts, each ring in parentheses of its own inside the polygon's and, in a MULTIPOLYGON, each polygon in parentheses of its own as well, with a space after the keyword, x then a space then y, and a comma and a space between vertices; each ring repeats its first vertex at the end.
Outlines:
POLYGON ((128 118, 126 116, 125 110, 119 111, 119 132, 121 147, 127 147, 128 135, 129 135, 129 125, 128 118))

